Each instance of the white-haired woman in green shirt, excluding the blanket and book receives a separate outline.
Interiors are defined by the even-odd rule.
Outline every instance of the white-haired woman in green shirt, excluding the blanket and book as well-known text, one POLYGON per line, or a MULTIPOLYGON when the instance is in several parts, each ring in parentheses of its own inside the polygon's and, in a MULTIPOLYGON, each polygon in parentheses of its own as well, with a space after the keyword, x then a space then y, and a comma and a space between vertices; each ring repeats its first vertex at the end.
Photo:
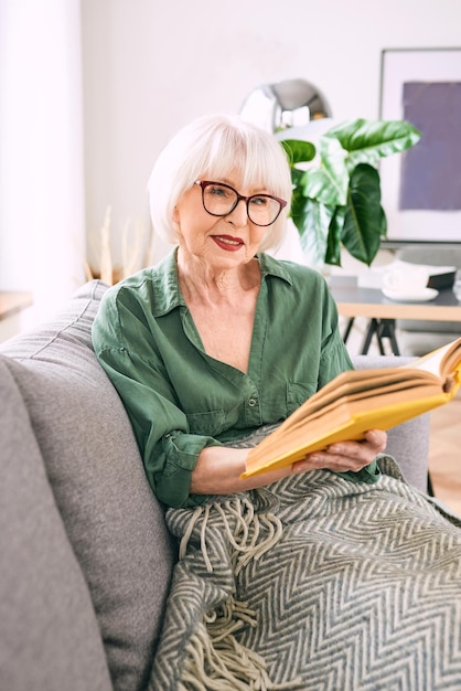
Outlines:
POLYGON ((289 472, 367 466, 383 432, 246 480, 248 450, 223 446, 351 368, 321 276, 265 254, 291 199, 280 145, 237 118, 202 118, 164 149, 149 192, 154 231, 178 246, 110 291, 94 341, 159 499, 185 507, 289 472))

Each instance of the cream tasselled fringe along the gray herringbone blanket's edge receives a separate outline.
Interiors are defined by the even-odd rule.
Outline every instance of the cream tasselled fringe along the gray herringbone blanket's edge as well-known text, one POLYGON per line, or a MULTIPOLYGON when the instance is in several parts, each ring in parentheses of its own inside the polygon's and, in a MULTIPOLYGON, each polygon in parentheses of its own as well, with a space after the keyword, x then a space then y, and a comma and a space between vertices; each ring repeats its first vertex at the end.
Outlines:
MULTIPOLYGON (((213 534, 226 536, 232 548, 232 570, 237 575, 251 560, 258 560, 282 536, 281 520, 266 506, 255 509, 245 495, 219 498, 196 507, 187 520, 180 544, 180 560, 194 541, 208 573, 213 572, 213 534)), ((222 563, 219 561, 219 567, 222 563)), ((300 689, 299 680, 271 682, 264 658, 238 642, 238 631, 257 626, 256 613, 232 595, 208 610, 185 647, 179 691, 289 691, 300 689)))

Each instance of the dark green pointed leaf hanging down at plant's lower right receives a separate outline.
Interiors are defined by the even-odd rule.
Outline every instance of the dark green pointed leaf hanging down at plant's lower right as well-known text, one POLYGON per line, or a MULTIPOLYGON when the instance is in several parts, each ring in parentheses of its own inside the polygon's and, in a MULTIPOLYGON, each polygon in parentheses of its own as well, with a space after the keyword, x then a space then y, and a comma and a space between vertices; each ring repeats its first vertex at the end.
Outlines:
POLYGON ((379 173, 373 166, 360 163, 351 173, 341 241, 347 252, 368 266, 386 233, 386 216, 380 205, 379 173))

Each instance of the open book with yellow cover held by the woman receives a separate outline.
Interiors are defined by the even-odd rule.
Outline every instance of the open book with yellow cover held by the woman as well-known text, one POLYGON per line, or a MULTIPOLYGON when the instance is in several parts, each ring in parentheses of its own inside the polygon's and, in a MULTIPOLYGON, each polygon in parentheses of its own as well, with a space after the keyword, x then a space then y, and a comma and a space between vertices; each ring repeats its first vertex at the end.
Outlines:
POLYGON ((461 380, 461 338, 395 368, 343 372, 247 457, 242 477, 282 468, 334 442, 361 439, 448 403, 461 380))

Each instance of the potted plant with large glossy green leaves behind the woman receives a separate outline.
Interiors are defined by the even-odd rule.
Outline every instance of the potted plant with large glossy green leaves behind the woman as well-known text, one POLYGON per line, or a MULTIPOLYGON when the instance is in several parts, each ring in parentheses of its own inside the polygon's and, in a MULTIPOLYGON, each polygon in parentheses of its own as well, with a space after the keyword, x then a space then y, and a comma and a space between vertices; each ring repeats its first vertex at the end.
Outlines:
POLYGON ((311 141, 283 139, 293 198, 290 215, 314 264, 341 266, 341 247, 372 264, 387 221, 376 168, 382 157, 416 145, 421 132, 405 120, 347 120, 311 141))

